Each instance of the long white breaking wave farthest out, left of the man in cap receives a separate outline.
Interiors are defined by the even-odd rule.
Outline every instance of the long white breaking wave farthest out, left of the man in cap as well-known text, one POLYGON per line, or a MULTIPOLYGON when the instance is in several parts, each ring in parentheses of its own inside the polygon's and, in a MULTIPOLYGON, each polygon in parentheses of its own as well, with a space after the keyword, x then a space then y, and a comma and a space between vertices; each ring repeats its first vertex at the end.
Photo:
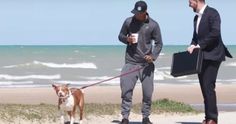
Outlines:
POLYGON ((9 66, 4 66, 3 68, 17 68, 17 67, 32 66, 32 65, 41 65, 41 66, 46 66, 49 68, 97 69, 97 66, 94 63, 57 64, 57 63, 52 63, 52 62, 40 62, 40 61, 33 61, 32 63, 25 63, 25 64, 19 64, 19 65, 9 65, 9 66))

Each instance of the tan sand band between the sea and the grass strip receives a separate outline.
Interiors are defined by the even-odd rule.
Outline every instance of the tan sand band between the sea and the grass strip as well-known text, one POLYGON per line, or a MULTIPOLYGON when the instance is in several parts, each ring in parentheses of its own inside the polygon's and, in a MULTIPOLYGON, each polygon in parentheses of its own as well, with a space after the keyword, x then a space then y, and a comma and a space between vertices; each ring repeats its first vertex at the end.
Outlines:
MULTIPOLYGON (((217 84, 218 104, 236 104, 236 84, 217 84)), ((93 86, 84 89, 85 103, 120 104, 120 86, 93 86)), ((6 104, 57 104, 57 96, 52 87, 41 88, 0 88, 0 103, 6 104)), ((199 85, 156 84, 153 101, 167 98, 186 104, 202 104, 199 85)), ((134 89, 133 103, 141 103, 142 87, 134 89)))

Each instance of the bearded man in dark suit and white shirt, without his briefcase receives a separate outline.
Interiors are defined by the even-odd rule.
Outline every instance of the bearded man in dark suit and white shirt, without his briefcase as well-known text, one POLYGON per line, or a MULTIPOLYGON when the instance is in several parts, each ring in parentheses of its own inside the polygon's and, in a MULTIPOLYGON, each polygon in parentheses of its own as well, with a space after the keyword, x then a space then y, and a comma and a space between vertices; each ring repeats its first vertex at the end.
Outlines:
POLYGON ((196 16, 192 42, 187 50, 189 53, 195 48, 203 51, 202 70, 198 74, 205 105, 205 120, 202 124, 217 124, 215 82, 221 62, 225 56, 232 56, 221 38, 221 19, 217 10, 206 5, 205 0, 189 0, 189 6, 196 16))

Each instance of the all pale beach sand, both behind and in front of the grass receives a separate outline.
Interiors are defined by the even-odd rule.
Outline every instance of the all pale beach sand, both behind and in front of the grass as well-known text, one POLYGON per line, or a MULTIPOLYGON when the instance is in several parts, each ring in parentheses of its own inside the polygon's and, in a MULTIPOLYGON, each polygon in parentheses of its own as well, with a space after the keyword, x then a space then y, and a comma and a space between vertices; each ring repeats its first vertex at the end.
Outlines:
MULTIPOLYGON (((236 103, 235 84, 217 84, 217 99, 219 104, 236 103)), ((84 89, 86 103, 116 103, 120 104, 119 86, 94 86, 84 89)), ((199 85, 185 84, 155 84, 153 100, 168 98, 187 104, 202 104, 203 99, 199 85)), ((57 104, 57 96, 52 87, 48 88, 0 88, 0 103, 4 104, 57 104)), ((133 103, 140 103, 142 100, 142 87, 137 85, 134 90, 133 103)), ((219 124, 235 124, 236 112, 219 113, 219 124)), ((201 124, 204 114, 152 114, 150 119, 154 124, 201 124)), ((120 115, 89 116, 84 124, 118 124, 120 115)), ((141 115, 131 113, 131 124, 141 124, 141 115)), ((59 119, 58 119, 59 120, 59 119)), ((1 120, 0 120, 1 123, 1 120)), ((22 124, 27 122, 22 121, 22 124)), ((47 123, 47 122, 45 122, 47 123)))

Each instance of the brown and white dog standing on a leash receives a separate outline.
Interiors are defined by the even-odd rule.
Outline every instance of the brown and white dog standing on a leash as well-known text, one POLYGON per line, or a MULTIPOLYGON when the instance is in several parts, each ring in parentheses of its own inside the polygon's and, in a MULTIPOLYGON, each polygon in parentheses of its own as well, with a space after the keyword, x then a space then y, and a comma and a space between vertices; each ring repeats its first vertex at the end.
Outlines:
POLYGON ((69 84, 56 85, 52 84, 52 87, 56 91, 58 96, 58 110, 60 111, 61 124, 65 123, 65 112, 69 115, 70 124, 74 124, 76 109, 80 110, 80 121, 82 124, 83 110, 84 110, 84 94, 82 90, 77 88, 69 88, 69 84))

